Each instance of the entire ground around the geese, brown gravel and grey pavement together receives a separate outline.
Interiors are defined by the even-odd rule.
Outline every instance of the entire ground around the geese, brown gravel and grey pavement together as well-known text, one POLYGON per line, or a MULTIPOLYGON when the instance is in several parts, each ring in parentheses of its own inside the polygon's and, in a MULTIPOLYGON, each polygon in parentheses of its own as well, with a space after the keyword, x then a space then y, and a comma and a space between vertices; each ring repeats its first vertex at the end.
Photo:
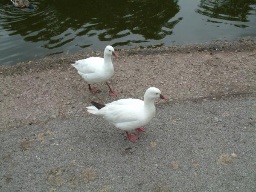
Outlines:
POLYGON ((255 43, 116 52, 117 97, 88 92, 70 65, 102 51, 0 67, 0 190, 253 191, 255 43), (85 110, 150 86, 169 100, 136 143, 85 110))

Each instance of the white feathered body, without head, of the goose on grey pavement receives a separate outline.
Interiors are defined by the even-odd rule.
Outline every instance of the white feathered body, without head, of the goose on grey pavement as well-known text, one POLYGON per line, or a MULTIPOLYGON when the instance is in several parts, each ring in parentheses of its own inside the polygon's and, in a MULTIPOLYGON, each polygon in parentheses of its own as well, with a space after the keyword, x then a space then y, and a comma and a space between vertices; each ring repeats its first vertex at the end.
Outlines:
POLYGON ((144 105, 139 99, 120 99, 108 103, 102 109, 95 106, 87 107, 87 111, 105 117, 118 129, 130 131, 145 126, 155 114, 154 102, 152 105, 144 105))

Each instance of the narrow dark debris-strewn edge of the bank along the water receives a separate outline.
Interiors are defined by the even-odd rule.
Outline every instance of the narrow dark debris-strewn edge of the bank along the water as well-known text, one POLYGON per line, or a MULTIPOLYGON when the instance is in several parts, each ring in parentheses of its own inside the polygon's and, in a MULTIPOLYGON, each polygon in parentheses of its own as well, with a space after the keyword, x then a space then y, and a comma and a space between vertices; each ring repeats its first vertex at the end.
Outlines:
MULTIPOLYGON (((161 54, 161 53, 170 53, 170 52, 181 52, 181 53, 190 53, 190 52, 209 52, 218 53, 223 51, 229 52, 241 52, 241 51, 250 51, 256 49, 256 41, 252 39, 240 39, 237 41, 218 41, 213 40, 212 42, 204 42, 204 43, 195 43, 195 44, 183 44, 183 45, 173 45, 173 46, 162 46, 162 45, 152 45, 152 46, 135 46, 128 49, 115 49, 116 52, 119 52, 120 55, 134 55, 134 54, 161 54)), ((67 56, 49 56, 46 55, 43 58, 39 58, 37 60, 28 60, 23 62, 18 62, 14 65, 1 65, 0 75, 12 75, 21 70, 21 67, 24 68, 37 68, 37 69, 55 69, 59 66, 59 63, 64 64, 63 66, 68 66, 68 63, 73 63, 76 60, 84 59, 87 57, 103 57, 104 49, 97 51, 89 51, 89 52, 77 52, 74 54, 70 54, 67 56), (69 62, 67 62, 69 61, 69 62), (44 65, 41 64, 44 62, 44 65), (53 65, 56 64, 57 65, 53 65), (17 68, 17 69, 15 69, 17 68), (10 70, 13 70, 11 72, 10 70)), ((21 70, 21 72, 26 71, 26 69, 21 70)))

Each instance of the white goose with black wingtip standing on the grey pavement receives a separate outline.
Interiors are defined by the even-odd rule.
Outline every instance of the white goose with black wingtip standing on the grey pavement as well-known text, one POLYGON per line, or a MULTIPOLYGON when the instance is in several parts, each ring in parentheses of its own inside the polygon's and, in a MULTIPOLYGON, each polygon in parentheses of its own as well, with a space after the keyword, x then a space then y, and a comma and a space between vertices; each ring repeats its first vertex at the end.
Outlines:
POLYGON ((105 105, 91 102, 94 106, 88 106, 87 112, 100 115, 113 123, 116 128, 124 130, 128 139, 132 142, 137 140, 137 136, 128 133, 132 129, 143 132, 145 126, 155 114, 154 99, 167 99, 159 89, 150 87, 146 90, 144 101, 140 99, 120 99, 105 105))

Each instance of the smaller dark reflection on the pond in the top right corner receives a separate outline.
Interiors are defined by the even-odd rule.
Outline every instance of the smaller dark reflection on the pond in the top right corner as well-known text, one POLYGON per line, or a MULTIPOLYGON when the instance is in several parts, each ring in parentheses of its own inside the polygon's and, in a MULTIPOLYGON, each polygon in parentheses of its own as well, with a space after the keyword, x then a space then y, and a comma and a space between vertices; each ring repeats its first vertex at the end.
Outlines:
MULTIPOLYGON (((196 12, 205 16, 228 21, 248 22, 248 16, 255 14, 256 0, 201 0, 198 5, 201 9, 196 12)), ((221 20, 208 19, 212 23, 223 23, 221 20)), ((232 24, 232 23, 230 23, 232 24)), ((245 28, 247 25, 234 24, 234 26, 245 28)))

